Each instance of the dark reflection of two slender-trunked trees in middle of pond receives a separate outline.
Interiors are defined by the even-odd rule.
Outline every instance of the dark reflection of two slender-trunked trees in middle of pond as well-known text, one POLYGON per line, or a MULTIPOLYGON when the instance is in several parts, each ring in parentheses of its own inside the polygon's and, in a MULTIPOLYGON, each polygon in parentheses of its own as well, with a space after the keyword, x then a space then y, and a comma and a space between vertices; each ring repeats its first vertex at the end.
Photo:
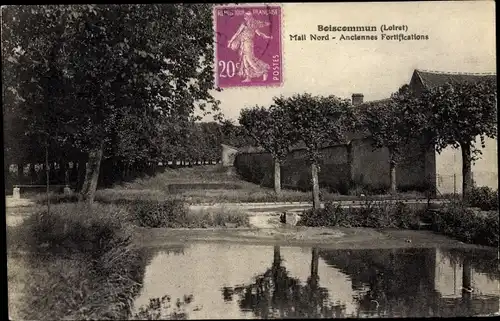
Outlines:
POLYGON ((242 311, 252 311, 259 318, 289 317, 341 317, 344 306, 334 306, 328 300, 328 290, 319 286, 318 250, 313 249, 311 276, 305 284, 289 276, 282 265, 280 247, 274 247, 271 268, 255 278, 252 284, 224 288, 225 301, 239 295, 242 311))

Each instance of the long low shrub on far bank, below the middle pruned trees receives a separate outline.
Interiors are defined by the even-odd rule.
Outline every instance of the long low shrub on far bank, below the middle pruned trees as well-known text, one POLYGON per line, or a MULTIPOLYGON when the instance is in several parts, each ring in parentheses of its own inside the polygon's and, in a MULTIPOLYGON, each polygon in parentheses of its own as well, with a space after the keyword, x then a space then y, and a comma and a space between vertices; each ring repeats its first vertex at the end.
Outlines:
POLYGON ((417 228, 422 212, 402 202, 367 201, 361 207, 347 208, 341 207, 338 203, 327 202, 324 208, 305 211, 297 225, 417 228))

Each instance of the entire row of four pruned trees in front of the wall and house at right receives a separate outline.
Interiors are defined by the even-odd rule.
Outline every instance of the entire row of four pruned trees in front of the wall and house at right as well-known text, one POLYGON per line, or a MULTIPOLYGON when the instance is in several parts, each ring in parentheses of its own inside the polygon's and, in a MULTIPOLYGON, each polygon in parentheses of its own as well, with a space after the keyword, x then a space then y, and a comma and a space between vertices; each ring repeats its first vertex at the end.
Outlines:
POLYGON ((479 136, 497 135, 496 82, 447 83, 415 95, 408 85, 389 99, 352 106, 336 96, 297 94, 275 97, 269 107, 241 111, 239 122, 275 164, 275 192, 281 192, 281 163, 297 144, 305 147, 311 164, 313 204, 320 205, 318 163, 320 149, 346 143, 349 133, 370 135, 374 149, 389 151, 391 192, 396 192, 396 167, 409 144, 441 152, 447 146, 461 147, 463 196, 471 185, 471 163, 481 154, 474 143, 479 136))

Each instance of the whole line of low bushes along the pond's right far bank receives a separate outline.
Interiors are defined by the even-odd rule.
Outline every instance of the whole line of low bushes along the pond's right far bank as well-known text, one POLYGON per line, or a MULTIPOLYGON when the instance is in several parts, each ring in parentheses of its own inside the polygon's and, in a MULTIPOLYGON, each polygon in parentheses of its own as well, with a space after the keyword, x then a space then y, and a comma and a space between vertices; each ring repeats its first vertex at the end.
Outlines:
POLYGON ((442 205, 433 212, 403 202, 369 201, 359 208, 343 208, 327 202, 322 209, 305 211, 297 225, 417 229, 424 217, 432 218, 434 232, 466 243, 499 245, 498 211, 476 211, 459 201, 442 205))

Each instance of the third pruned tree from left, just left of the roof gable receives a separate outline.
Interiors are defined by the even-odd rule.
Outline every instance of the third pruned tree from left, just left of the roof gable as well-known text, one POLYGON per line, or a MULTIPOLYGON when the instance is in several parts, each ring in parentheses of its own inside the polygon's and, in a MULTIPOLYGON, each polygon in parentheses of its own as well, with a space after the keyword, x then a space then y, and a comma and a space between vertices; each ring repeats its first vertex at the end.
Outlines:
POLYGON ((368 102, 357 110, 360 130, 367 130, 375 149, 389 152, 390 192, 396 193, 396 167, 408 144, 423 134, 425 117, 421 117, 417 98, 408 85, 402 86, 390 99, 368 102))

